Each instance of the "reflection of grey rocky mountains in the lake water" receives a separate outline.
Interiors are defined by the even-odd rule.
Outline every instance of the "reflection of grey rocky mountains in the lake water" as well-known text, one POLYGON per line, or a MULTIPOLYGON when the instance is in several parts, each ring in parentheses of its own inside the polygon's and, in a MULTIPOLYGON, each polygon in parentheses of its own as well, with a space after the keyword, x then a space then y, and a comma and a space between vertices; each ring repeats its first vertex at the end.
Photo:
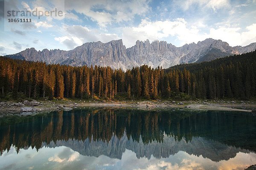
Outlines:
POLYGON ((57 147, 66 146, 70 147, 72 150, 79 152, 84 156, 101 156, 105 155, 110 158, 122 158, 122 153, 125 149, 132 150, 136 153, 138 159, 141 157, 146 157, 148 159, 153 155, 155 158, 168 158, 170 155, 175 155, 180 150, 185 151, 189 154, 194 154, 196 156, 202 155, 204 158, 209 158, 212 161, 228 160, 236 156, 236 153, 243 152, 249 153, 249 150, 236 148, 233 146, 228 146, 221 144, 220 142, 215 142, 212 140, 207 140, 201 137, 195 137, 191 142, 186 143, 185 139, 179 142, 174 137, 163 138, 163 142, 152 141, 148 144, 144 144, 142 139, 139 142, 132 139, 128 139, 126 135, 118 139, 116 136, 112 136, 109 142, 103 141, 91 141, 86 139, 83 141, 72 140, 68 141, 56 141, 50 142, 50 144, 43 143, 42 147, 57 147))

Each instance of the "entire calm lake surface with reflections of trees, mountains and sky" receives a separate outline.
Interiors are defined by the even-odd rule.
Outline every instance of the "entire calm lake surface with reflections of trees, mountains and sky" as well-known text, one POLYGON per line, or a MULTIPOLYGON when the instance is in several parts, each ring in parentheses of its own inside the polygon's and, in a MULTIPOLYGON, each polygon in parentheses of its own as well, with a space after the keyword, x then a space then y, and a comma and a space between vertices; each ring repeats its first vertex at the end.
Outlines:
POLYGON ((244 170, 256 116, 224 111, 76 109, 0 118, 1 170, 244 170))

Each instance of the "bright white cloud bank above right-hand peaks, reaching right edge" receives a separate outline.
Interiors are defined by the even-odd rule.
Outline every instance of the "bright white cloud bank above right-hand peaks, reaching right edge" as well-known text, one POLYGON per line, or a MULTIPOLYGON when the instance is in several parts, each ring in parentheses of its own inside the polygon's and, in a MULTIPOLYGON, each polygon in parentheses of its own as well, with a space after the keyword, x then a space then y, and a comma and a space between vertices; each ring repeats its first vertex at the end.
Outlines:
MULTIPOLYGON (((189 24, 183 18, 176 18, 173 21, 155 21, 142 20, 137 27, 122 28, 122 39, 126 47, 131 47, 136 40, 163 40, 174 37, 179 45, 213 38, 228 42, 231 46, 249 45, 256 40, 256 23, 247 26, 245 31, 240 27, 219 26, 218 28, 206 28, 204 23, 199 25, 189 24), (204 31, 201 30, 204 28, 204 31), (209 31, 209 32, 208 32, 209 31)), ((179 46, 178 45, 178 46, 179 46)))

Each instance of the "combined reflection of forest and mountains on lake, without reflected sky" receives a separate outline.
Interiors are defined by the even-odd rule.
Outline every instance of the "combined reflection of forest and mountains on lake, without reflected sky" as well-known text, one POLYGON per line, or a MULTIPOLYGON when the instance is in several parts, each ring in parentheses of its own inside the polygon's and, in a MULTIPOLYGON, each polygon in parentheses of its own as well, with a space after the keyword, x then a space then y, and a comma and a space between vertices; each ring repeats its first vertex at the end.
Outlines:
MULTIPOLYGON (((180 150, 213 161, 256 151, 256 118, 250 113, 75 110, 0 119, 0 150, 15 145, 67 146, 82 155, 121 159, 125 149, 169 157, 180 150)), ((2 153, 2 152, 1 152, 2 153)))

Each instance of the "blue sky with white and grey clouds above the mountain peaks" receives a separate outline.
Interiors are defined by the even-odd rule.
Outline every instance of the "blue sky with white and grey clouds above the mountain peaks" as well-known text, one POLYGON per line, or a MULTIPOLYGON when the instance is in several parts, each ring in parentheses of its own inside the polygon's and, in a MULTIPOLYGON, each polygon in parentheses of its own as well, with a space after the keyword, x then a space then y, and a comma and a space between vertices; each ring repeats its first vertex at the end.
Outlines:
POLYGON ((231 46, 256 42, 256 0, 0 0, 0 8, 0 55, 119 39, 126 48, 147 39, 176 46, 206 38, 231 46), (8 23, 6 17, 11 9, 55 8, 64 17, 27 17, 31 23, 8 23))

